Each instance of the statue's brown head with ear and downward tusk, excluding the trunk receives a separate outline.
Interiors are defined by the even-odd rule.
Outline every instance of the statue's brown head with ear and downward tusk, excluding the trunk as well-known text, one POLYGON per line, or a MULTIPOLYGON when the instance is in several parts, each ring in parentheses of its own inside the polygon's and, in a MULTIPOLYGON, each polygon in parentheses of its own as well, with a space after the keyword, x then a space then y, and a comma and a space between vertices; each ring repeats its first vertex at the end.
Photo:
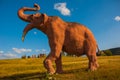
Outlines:
POLYGON ((40 14, 40 13, 36 13, 31 15, 32 20, 31 23, 28 24, 23 31, 23 35, 22 35, 22 41, 24 41, 24 38, 26 36, 26 34, 28 33, 28 31, 30 31, 33 28, 37 28, 41 31, 44 32, 44 30, 46 29, 46 27, 44 26, 48 20, 48 16, 46 14, 40 14))

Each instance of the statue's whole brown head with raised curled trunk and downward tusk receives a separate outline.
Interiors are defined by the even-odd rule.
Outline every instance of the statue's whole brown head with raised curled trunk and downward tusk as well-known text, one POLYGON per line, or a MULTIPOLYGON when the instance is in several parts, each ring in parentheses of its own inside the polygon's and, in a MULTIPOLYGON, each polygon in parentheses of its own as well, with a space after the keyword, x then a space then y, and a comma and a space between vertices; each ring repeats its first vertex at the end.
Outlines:
POLYGON ((42 26, 47 22, 48 16, 46 14, 36 13, 36 14, 24 14, 24 11, 37 11, 40 10, 40 6, 37 4, 34 4, 34 8, 29 7, 23 7, 18 10, 18 16, 23 21, 30 22, 28 24, 22 35, 22 41, 24 41, 25 35, 28 31, 30 31, 33 28, 41 29, 42 26))

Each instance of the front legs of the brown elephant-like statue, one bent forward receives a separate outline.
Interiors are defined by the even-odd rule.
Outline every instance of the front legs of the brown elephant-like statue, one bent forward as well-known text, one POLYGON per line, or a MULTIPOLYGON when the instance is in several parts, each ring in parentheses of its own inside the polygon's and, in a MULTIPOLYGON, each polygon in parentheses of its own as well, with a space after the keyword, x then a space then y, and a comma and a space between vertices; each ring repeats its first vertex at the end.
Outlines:
POLYGON ((61 66, 62 66, 61 65, 61 56, 60 56, 61 46, 56 45, 56 46, 52 46, 51 48, 52 49, 51 49, 50 54, 44 60, 44 67, 47 69, 48 73, 54 74, 55 70, 52 65, 53 61, 55 61, 55 63, 56 63, 57 71, 61 70, 61 66), (58 63, 60 63, 60 65, 58 63))

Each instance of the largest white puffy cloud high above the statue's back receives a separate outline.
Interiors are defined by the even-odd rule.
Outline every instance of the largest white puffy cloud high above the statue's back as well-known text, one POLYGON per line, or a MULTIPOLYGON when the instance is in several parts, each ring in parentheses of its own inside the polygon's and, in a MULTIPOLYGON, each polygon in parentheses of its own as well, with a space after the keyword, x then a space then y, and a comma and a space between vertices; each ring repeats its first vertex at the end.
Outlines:
POLYGON ((66 3, 56 3, 54 4, 54 9, 60 11, 64 16, 70 16, 70 10, 66 7, 66 3))

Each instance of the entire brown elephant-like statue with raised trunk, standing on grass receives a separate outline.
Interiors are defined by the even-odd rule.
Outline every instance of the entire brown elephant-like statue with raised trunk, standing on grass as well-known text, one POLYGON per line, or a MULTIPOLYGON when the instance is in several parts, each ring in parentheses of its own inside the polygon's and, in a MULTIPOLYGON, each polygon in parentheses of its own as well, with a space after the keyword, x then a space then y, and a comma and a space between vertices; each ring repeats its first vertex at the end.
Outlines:
POLYGON ((88 68, 92 71, 98 67, 96 51, 97 43, 92 32, 79 23, 65 22, 57 16, 47 16, 46 14, 24 14, 24 11, 40 10, 39 5, 34 4, 34 8, 23 7, 18 10, 18 16, 29 22, 25 27, 22 40, 28 31, 33 28, 45 33, 49 40, 50 53, 44 60, 44 67, 50 74, 62 73, 61 51, 70 55, 80 56, 86 54, 89 59, 88 68), (52 66, 55 61, 56 71, 52 66))

